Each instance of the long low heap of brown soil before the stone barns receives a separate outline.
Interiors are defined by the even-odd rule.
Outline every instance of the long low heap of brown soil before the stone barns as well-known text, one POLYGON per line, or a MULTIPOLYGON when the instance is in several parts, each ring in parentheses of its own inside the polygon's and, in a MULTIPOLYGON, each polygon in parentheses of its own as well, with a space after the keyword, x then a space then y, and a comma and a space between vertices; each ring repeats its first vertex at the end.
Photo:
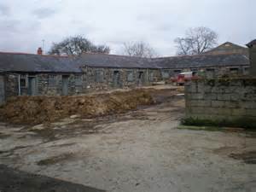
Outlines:
POLYGON ((0 120, 12 124, 41 124, 73 114, 90 118, 124 113, 153 103, 154 99, 145 90, 92 96, 17 96, 0 107, 0 120))

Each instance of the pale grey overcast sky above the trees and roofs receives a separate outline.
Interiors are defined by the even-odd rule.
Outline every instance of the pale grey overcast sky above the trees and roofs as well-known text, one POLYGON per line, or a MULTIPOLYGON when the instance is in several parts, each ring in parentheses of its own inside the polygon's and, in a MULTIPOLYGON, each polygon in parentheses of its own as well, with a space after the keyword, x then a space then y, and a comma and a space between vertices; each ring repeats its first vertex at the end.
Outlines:
POLYGON ((218 32, 218 43, 256 38, 256 0, 0 0, 0 51, 35 53, 67 36, 84 35, 119 54, 128 41, 146 41, 174 55, 173 39, 189 27, 218 32))

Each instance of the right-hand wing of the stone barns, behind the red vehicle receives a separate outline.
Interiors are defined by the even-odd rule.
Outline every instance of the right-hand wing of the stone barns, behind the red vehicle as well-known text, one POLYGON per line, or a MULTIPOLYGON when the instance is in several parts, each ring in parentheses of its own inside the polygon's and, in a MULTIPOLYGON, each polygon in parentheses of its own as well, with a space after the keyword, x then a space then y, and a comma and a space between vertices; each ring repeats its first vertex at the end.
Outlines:
POLYGON ((249 67, 247 55, 242 54, 172 56, 155 58, 152 61, 160 68, 163 79, 186 71, 203 72, 207 77, 230 73, 246 75, 249 67))

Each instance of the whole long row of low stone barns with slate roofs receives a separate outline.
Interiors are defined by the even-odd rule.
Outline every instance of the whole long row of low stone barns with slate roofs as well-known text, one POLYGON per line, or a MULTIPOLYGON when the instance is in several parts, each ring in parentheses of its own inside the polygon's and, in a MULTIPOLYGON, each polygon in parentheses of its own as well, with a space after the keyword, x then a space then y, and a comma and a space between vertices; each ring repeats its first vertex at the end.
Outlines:
POLYGON ((172 56, 154 59, 123 55, 55 56, 0 53, 0 103, 9 96, 74 95, 150 85, 178 73, 209 76, 247 74, 249 59, 240 53, 172 56))

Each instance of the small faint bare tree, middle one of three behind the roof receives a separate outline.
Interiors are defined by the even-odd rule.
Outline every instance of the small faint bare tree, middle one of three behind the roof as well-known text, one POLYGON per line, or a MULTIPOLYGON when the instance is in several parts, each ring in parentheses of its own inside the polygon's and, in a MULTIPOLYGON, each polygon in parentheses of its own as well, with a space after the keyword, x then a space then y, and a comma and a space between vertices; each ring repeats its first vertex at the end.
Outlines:
POLYGON ((143 41, 124 43, 123 54, 148 58, 152 58, 157 55, 154 49, 143 41))

